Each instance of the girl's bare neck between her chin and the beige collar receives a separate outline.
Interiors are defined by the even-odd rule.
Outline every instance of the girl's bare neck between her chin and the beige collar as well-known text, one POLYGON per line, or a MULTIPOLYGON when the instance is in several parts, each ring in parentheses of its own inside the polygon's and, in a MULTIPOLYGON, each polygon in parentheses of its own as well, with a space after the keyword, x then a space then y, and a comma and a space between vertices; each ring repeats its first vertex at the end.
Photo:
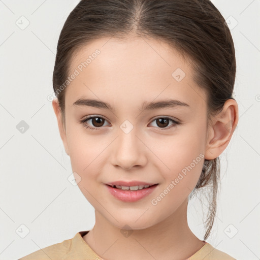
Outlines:
POLYGON ((95 225, 83 239, 104 259, 184 260, 204 245, 189 229, 187 205, 186 200, 164 221, 133 231, 122 231, 95 211, 95 225))

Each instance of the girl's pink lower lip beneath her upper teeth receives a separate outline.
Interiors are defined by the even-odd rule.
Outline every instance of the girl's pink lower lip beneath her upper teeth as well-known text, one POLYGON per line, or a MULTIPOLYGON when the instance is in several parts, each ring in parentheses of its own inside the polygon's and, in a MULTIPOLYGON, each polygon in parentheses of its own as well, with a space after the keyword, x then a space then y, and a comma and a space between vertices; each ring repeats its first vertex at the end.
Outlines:
POLYGON ((158 184, 150 186, 149 188, 143 188, 139 190, 122 190, 117 188, 112 188, 107 185, 109 192, 118 200, 124 202, 136 202, 144 197, 148 196, 153 192, 153 190, 158 186, 158 184))

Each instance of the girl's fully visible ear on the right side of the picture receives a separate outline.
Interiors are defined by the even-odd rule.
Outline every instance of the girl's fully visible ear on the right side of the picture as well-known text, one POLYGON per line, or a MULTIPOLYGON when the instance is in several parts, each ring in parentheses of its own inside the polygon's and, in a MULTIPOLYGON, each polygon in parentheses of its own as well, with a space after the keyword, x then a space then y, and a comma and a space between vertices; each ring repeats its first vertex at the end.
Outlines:
POLYGON ((238 124, 238 104, 229 99, 222 111, 214 116, 208 128, 205 159, 217 158, 228 146, 238 124))

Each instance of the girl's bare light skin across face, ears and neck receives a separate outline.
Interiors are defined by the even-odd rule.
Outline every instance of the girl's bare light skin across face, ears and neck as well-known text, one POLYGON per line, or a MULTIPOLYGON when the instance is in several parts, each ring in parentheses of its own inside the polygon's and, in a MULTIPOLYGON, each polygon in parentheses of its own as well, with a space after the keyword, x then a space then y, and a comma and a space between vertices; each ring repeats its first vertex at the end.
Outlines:
POLYGON ((187 223, 188 195, 204 159, 157 205, 151 200, 199 154, 214 159, 224 151, 238 123, 237 102, 226 101, 207 129, 206 93, 193 81, 190 62, 175 49, 152 39, 102 38, 77 52, 71 72, 96 49, 101 54, 66 89, 65 123, 57 100, 52 103, 72 170, 81 177, 78 186, 95 209, 94 227, 83 239, 108 260, 186 259, 204 245, 187 223), (180 82, 172 77, 177 68, 186 74, 180 82), (114 111, 73 106, 80 98, 107 102, 114 111), (142 102, 169 98, 189 107, 141 111, 142 102), (79 123, 91 115, 104 117, 103 126, 88 120, 89 126, 100 127, 91 131, 79 123), (171 127, 169 121, 165 129, 156 123, 155 118, 166 116, 182 124, 171 127), (127 134, 120 128, 125 120, 134 127, 127 134), (129 203, 108 192, 104 183, 116 180, 159 185, 148 197, 129 203), (128 237, 121 233, 125 225, 132 232, 128 237))

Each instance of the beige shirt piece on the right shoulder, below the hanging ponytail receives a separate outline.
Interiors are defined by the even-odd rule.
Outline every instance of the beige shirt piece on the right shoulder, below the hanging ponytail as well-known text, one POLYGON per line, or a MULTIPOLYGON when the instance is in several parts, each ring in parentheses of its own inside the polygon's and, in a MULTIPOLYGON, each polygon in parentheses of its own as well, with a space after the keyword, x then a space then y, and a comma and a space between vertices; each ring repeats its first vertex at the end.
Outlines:
POLYGON ((187 260, 236 260, 231 255, 214 248, 211 244, 207 243, 195 254, 187 260))

